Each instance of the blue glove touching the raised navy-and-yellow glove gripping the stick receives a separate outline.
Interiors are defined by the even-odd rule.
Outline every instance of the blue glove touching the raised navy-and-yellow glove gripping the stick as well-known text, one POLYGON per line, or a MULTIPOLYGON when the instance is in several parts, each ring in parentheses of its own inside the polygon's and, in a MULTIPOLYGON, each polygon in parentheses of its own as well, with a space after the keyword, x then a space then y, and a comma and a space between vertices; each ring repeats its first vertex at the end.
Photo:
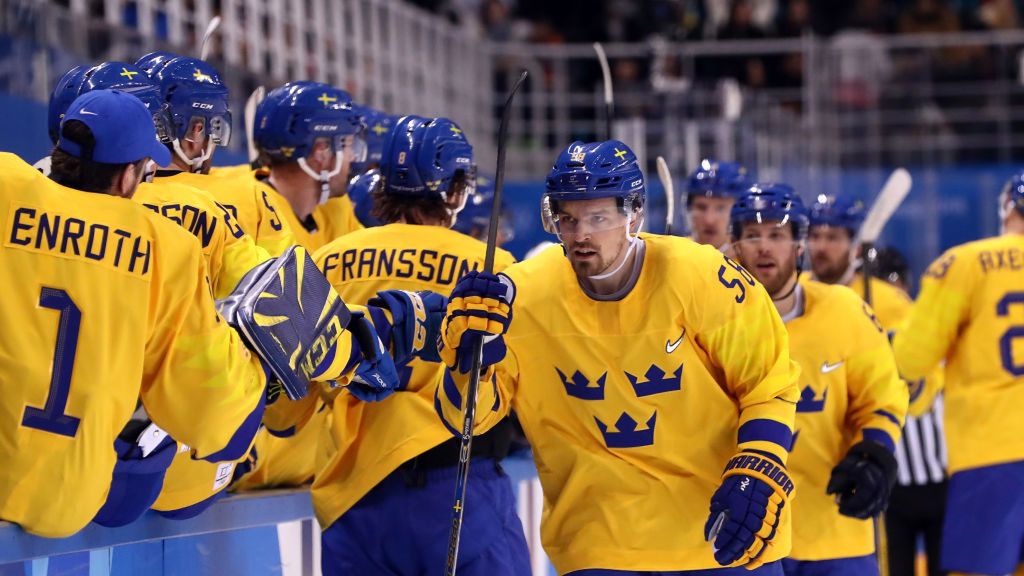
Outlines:
POLYGON ((413 358, 427 362, 441 361, 437 354, 437 336, 447 298, 429 290, 384 290, 371 298, 368 305, 391 313, 390 340, 395 364, 404 364, 413 358))

